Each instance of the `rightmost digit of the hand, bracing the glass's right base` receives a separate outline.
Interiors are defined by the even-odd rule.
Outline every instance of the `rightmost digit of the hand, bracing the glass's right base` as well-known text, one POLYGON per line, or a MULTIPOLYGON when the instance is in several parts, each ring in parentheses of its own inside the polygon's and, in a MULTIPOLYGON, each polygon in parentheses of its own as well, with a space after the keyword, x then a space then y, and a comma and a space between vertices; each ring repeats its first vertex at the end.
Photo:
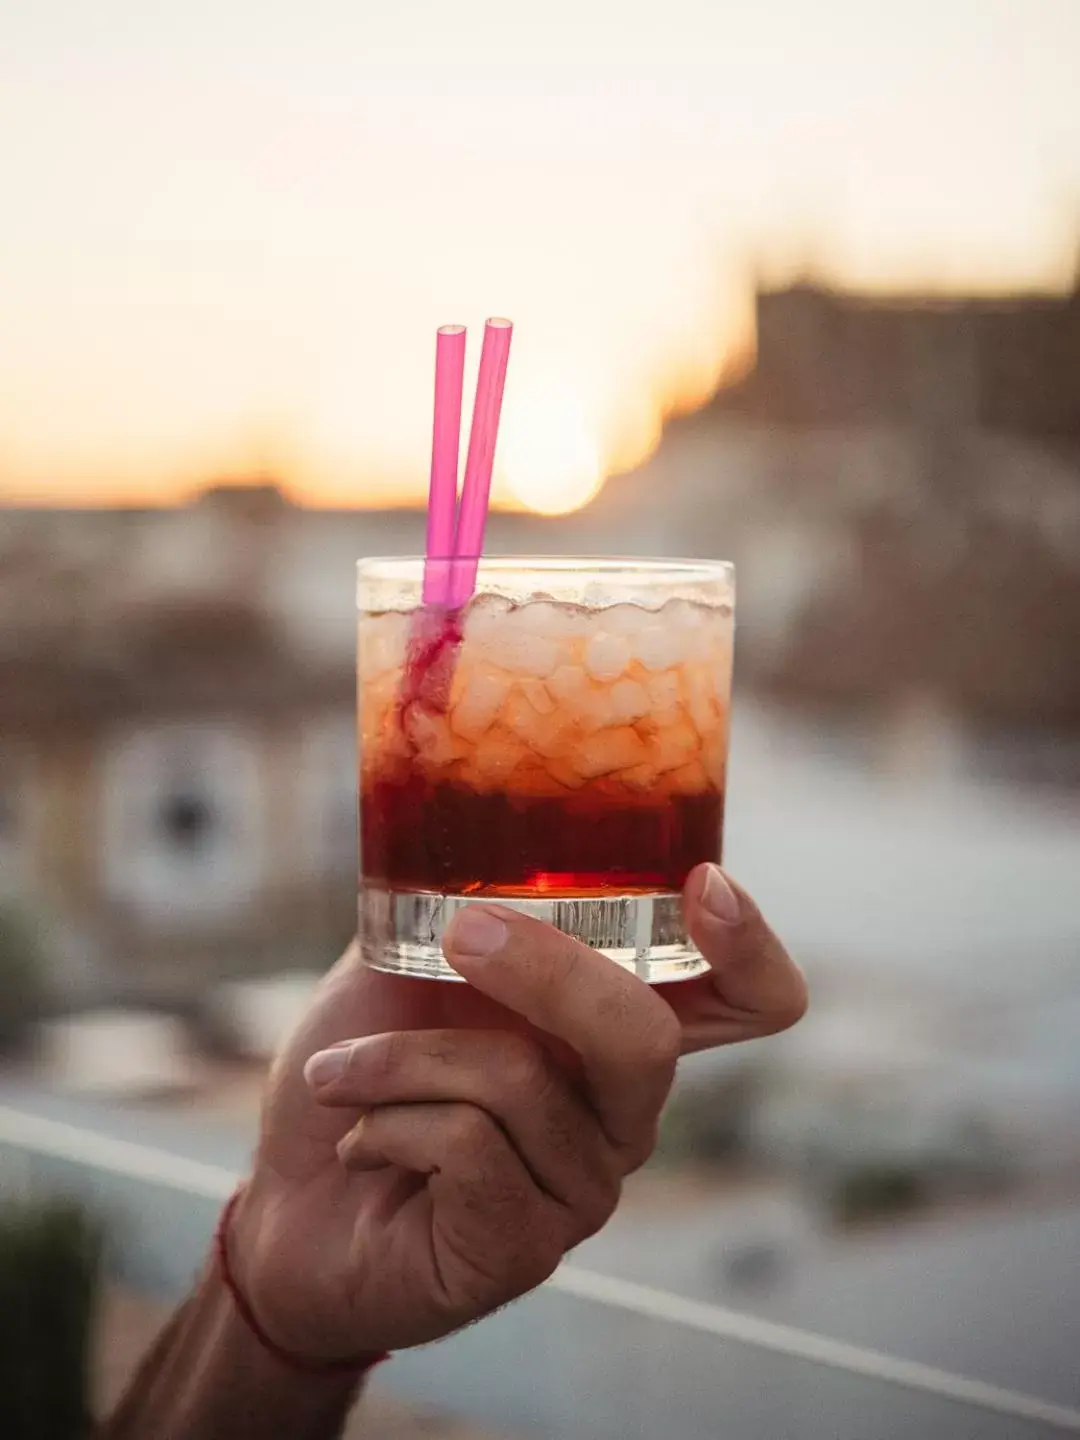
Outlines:
POLYGON ((690 1014, 681 1017, 685 1050, 772 1035, 802 1018, 806 1011, 802 971, 750 896, 719 865, 691 871, 684 909, 687 927, 711 971, 691 982, 690 1014))

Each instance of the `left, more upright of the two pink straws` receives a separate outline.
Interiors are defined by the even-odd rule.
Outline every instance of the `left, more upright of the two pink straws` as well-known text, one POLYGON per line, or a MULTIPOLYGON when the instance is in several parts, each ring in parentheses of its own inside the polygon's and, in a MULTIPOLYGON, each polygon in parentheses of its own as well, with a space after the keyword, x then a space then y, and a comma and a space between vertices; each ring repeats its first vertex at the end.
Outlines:
POLYGON ((442 325, 435 337, 435 420, 431 441, 428 540, 423 564, 423 603, 446 605, 451 598, 454 531, 458 511, 458 446, 461 390, 465 374, 465 327, 442 325))

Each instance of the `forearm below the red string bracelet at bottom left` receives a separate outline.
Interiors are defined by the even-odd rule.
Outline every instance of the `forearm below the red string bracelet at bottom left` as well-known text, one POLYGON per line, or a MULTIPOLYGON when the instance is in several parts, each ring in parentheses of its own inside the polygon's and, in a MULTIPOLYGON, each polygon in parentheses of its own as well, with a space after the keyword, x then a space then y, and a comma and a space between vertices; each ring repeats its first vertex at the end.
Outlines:
POLYGON ((102 1440, 334 1440, 354 1375, 289 1369, 252 1335, 213 1264, 143 1359, 102 1440))

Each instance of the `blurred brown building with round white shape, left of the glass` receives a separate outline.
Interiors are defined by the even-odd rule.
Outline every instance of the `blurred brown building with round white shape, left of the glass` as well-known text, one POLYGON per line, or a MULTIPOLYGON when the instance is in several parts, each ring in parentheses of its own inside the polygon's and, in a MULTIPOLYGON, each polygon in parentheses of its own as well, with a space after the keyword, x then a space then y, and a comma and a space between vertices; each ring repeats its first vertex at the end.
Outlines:
POLYGON ((98 994, 190 999, 350 932, 350 593, 328 641, 295 541, 274 490, 9 513, 0 893, 92 943, 98 994))

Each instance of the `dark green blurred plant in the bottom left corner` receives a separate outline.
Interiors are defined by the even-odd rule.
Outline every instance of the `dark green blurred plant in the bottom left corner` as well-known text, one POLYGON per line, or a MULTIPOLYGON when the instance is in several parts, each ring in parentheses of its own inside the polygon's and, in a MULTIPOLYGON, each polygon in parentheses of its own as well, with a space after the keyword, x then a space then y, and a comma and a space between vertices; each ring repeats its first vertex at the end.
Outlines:
POLYGON ((0 1207, 0 1403, 12 1440, 92 1430, 89 1352, 102 1228, 68 1200, 0 1207))

